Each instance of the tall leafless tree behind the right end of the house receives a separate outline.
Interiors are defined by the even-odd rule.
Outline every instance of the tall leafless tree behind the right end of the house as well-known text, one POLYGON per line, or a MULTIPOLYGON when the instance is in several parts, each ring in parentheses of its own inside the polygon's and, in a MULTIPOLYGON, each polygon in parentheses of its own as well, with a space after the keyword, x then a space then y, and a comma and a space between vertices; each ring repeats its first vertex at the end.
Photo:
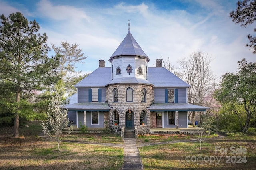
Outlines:
MULTIPOLYGON (((210 69, 211 59, 198 51, 178 63, 184 80, 190 85, 188 103, 204 106, 204 98, 212 91, 215 81, 215 76, 210 69)), ((200 112, 200 122, 202 122, 201 115, 202 112, 200 112)), ((195 112, 192 112, 192 125, 195 125, 195 112)))

